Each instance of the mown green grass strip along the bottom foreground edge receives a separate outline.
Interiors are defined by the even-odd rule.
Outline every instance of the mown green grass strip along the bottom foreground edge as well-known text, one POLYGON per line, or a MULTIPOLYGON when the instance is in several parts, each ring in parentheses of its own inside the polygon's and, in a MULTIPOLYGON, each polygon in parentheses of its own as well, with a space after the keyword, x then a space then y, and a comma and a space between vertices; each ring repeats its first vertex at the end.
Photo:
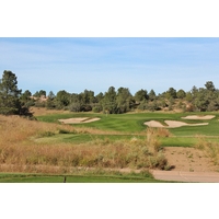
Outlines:
MULTIPOLYGON (((124 175, 46 175, 0 173, 0 183, 165 183, 150 176, 139 174, 124 175)), ((168 182, 170 183, 170 182, 168 182)))

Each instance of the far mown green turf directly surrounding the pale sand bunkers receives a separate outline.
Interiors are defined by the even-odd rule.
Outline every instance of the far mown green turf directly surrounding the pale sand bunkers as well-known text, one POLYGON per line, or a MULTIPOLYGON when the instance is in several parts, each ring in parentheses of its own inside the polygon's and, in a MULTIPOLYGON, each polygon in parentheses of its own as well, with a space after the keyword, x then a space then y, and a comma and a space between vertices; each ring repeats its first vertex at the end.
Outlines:
POLYGON ((37 116, 38 120, 47 123, 59 123, 58 119, 71 118, 71 117, 100 117, 101 119, 94 123, 88 124, 74 124, 76 127, 94 127, 102 130, 110 131, 125 131, 125 132, 138 132, 146 129, 143 125, 148 120, 158 120, 164 123, 165 119, 181 120, 189 124, 194 123, 209 123, 209 126, 195 126, 195 127, 181 127, 172 128, 171 132, 174 135, 218 135, 216 129, 219 126, 218 113, 131 113, 131 114, 111 114, 105 116, 104 114, 88 114, 88 113, 69 113, 69 114, 51 114, 46 116, 37 116), (216 118, 210 120, 188 120, 181 117, 187 115, 216 115, 216 118))

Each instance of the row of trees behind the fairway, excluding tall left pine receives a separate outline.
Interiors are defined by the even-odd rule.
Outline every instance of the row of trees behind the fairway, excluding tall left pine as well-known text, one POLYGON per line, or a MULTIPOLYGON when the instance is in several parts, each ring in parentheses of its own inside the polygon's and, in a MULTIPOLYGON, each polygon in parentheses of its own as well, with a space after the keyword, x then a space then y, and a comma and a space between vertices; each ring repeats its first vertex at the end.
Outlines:
MULTIPOLYGON (((43 93, 43 91, 38 93, 43 93)), ((193 87, 188 92, 170 88, 158 95, 153 90, 148 93, 143 89, 132 95, 128 88, 119 88, 116 91, 114 87, 108 88, 107 92, 101 92, 97 95, 88 90, 79 94, 71 94, 65 90, 57 92, 57 95, 53 92, 49 92, 49 94, 53 95, 48 95, 46 102, 42 102, 39 97, 35 99, 35 105, 47 108, 65 108, 71 112, 93 111, 94 113, 102 112, 104 114, 122 114, 137 110, 151 112, 161 110, 211 112, 219 110, 219 90, 215 88, 211 81, 207 81, 205 88, 197 89, 193 87)))

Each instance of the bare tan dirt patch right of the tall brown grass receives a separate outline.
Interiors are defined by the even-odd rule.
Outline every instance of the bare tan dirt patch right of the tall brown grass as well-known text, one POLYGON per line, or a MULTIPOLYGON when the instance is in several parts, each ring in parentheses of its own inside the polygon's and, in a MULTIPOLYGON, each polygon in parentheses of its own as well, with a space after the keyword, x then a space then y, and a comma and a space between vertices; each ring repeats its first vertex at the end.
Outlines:
POLYGON ((165 147, 164 154, 173 171, 187 172, 216 172, 218 166, 214 165, 205 152, 195 148, 165 147))

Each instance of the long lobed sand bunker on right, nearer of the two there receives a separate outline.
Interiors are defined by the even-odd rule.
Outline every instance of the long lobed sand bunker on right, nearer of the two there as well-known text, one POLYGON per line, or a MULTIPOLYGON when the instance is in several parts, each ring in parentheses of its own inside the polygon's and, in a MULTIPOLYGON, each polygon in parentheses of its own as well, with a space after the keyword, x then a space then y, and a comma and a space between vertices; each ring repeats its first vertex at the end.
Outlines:
POLYGON ((157 120, 150 120, 146 122, 145 125, 153 128, 178 128, 182 126, 206 126, 208 123, 201 123, 201 124, 187 124, 184 122, 178 120, 164 120, 168 126, 163 126, 160 122, 157 120))

